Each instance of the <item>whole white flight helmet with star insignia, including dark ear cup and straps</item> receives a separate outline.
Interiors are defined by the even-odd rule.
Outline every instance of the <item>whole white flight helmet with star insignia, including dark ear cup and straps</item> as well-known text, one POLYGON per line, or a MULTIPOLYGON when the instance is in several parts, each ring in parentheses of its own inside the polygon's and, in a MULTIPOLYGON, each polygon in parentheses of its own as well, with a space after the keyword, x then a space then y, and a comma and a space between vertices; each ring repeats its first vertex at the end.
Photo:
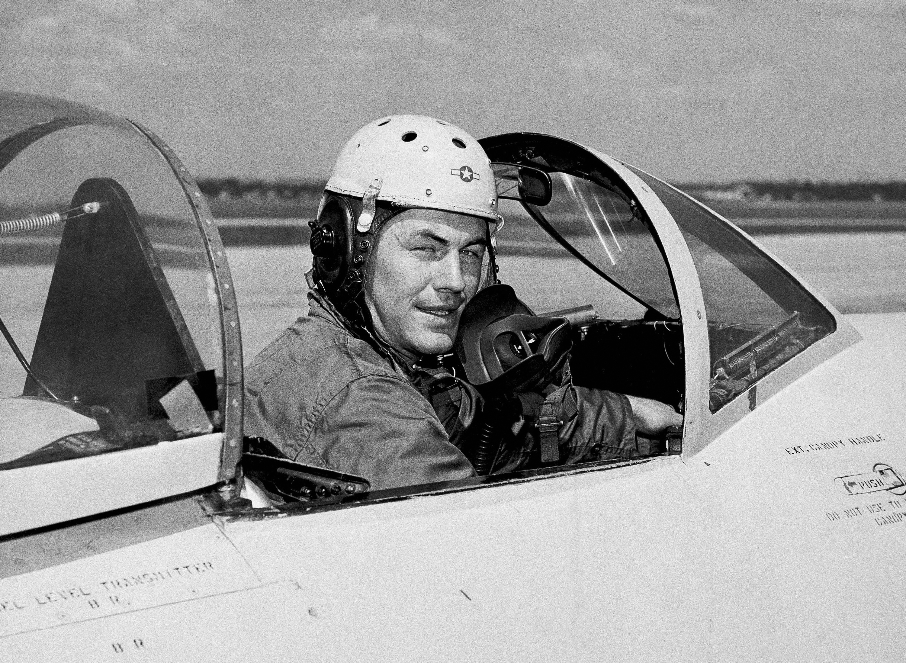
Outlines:
MULTIPOLYGON (((479 216, 496 228, 496 182, 485 150, 458 127, 421 115, 365 125, 342 149, 318 218, 309 224, 309 283, 335 303, 352 301, 361 293, 381 226, 412 207, 479 216)), ((493 280, 494 256, 488 260, 485 280, 493 280)))

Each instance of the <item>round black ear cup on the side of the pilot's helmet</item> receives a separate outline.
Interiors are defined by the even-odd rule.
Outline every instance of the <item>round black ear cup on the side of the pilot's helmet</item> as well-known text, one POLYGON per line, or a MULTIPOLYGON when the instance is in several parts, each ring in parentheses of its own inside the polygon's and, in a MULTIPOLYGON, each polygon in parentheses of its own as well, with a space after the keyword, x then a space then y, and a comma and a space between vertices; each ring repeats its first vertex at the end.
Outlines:
POLYGON ((312 228, 309 245, 314 255, 314 274, 328 295, 337 292, 352 264, 355 211, 344 197, 330 197, 312 228))

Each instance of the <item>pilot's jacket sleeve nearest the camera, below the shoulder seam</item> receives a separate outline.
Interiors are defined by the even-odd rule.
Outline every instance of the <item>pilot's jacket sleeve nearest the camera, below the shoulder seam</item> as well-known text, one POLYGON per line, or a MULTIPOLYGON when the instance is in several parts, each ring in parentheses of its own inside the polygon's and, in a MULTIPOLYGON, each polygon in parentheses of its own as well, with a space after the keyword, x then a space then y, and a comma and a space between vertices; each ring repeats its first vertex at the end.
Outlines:
POLYGON ((429 402, 387 376, 346 385, 325 405, 308 442, 328 466, 364 476, 372 490, 475 476, 429 402))

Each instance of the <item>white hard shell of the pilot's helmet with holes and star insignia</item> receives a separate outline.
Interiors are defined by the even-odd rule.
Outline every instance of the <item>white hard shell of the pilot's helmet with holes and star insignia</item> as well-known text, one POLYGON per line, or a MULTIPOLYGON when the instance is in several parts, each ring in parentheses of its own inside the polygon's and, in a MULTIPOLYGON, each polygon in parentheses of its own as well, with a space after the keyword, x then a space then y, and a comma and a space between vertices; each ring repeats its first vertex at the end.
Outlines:
MULTIPOLYGON (((391 115, 358 130, 340 152, 327 189, 497 221, 494 172, 485 150, 458 127, 422 115, 391 115)), ((367 215, 367 199, 365 207, 367 215)))

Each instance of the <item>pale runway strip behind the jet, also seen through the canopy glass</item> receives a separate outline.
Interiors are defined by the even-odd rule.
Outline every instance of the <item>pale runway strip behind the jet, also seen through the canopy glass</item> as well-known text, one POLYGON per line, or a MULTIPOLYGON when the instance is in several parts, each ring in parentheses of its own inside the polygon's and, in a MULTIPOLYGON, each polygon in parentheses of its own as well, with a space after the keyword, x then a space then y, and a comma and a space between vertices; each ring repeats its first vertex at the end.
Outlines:
MULTIPOLYGON (((843 313, 906 312, 906 233, 758 235, 756 239, 843 313)), ((540 255, 526 255, 528 248, 501 243, 498 262, 501 280, 513 285, 535 312, 592 303, 605 318, 641 317, 638 303, 572 257, 562 257, 562 249, 549 244, 541 247, 540 255)), ((236 284, 248 362, 308 311, 304 272, 312 264, 312 255, 303 244, 227 246, 226 255, 236 284)), ((0 266, 5 283, 0 314, 29 358, 53 274, 53 262, 47 257, 25 255, 18 263, 0 266)), ((197 273, 178 267, 168 268, 168 274, 198 351, 207 364, 215 365, 219 333, 211 329, 204 282, 198 281, 197 273)), ((24 371, 0 341, 0 396, 21 393, 23 383, 24 371)))

